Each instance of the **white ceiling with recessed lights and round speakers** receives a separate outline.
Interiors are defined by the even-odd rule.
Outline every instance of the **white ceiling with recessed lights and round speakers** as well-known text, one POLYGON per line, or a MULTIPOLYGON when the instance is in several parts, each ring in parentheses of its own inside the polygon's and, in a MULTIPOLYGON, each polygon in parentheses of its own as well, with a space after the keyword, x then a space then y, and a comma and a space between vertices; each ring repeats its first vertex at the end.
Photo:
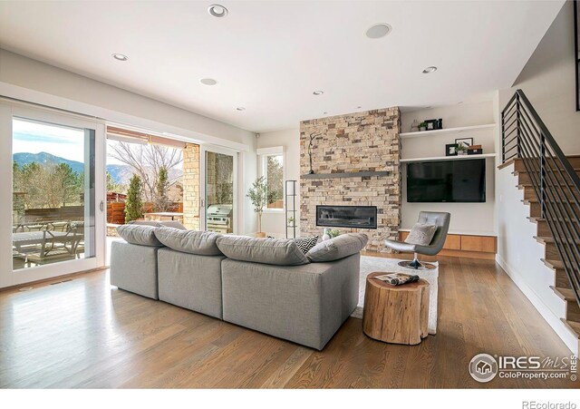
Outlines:
POLYGON ((1 1, 0 46, 249 131, 271 131, 507 88, 564 3, 216 1, 227 17, 208 15, 207 1, 1 1), (391 34, 367 38, 376 23, 391 24, 391 34), (422 74, 429 65, 439 70, 422 74), (199 83, 207 77, 218 84, 199 83))

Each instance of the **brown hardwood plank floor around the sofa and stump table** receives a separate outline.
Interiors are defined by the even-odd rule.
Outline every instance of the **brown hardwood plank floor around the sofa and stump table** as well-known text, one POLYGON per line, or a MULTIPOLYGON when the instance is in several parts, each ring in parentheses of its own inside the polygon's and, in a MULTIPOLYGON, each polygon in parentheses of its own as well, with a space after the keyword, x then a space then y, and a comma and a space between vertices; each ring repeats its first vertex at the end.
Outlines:
POLYGON ((374 341, 349 318, 322 352, 111 287, 107 271, 33 287, 0 292, 3 388, 578 387, 469 376, 482 352, 570 355, 489 260, 440 258, 438 334, 420 345, 374 341))

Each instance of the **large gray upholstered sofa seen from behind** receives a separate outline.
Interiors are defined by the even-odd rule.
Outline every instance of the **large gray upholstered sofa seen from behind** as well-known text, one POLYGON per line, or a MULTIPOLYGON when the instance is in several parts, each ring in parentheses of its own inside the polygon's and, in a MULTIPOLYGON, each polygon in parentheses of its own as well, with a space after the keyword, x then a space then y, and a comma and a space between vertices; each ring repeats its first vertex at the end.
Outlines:
POLYGON ((366 236, 304 254, 292 240, 124 225, 111 245, 111 284, 322 350, 353 313, 366 236))

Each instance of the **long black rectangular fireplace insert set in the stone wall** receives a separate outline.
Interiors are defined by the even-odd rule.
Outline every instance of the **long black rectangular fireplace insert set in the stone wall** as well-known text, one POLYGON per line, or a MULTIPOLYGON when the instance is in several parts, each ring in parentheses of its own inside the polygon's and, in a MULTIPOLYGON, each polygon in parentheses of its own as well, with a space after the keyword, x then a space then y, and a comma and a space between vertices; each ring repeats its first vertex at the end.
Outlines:
POLYGON ((376 206, 316 206, 316 226, 377 229, 376 206))

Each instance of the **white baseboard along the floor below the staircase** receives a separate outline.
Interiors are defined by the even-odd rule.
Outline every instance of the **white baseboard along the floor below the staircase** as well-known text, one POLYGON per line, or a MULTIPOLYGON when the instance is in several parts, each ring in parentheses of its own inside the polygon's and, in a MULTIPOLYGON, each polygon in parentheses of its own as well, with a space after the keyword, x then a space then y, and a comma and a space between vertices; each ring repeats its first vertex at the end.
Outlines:
POLYGON ((526 281, 522 278, 517 269, 509 266, 506 260, 499 254, 496 256, 496 262, 507 274, 509 278, 516 284, 527 299, 536 308, 537 312, 546 320, 548 326, 551 326, 556 335, 565 343, 565 346, 570 349, 571 353, 578 355, 578 339, 570 332, 559 316, 556 316, 550 307, 547 307, 542 298, 538 297, 536 291, 529 287, 526 281))

